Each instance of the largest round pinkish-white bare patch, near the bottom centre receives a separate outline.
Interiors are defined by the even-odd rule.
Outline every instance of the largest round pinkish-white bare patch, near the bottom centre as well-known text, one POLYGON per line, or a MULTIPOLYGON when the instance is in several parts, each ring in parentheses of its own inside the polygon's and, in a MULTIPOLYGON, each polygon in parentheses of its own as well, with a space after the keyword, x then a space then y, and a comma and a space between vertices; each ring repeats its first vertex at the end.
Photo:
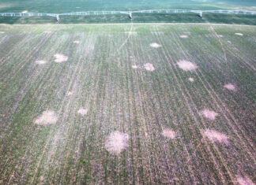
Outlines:
POLYGON ((128 146, 128 139, 129 135, 119 131, 113 131, 110 135, 107 136, 105 148, 111 154, 118 155, 128 146))

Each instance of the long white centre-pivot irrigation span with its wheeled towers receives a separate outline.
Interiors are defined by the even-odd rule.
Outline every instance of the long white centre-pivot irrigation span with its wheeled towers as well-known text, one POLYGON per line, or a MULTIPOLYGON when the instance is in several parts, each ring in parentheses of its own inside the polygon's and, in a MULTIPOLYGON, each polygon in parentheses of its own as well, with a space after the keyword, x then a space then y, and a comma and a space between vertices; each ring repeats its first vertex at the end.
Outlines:
POLYGON ((147 9, 137 11, 87 11, 75 13, 0 13, 2 17, 57 17, 60 16, 91 16, 91 15, 107 15, 107 14, 127 14, 132 18, 132 13, 198 13, 202 17, 202 13, 229 13, 229 14, 250 14, 255 15, 256 11, 249 10, 194 10, 194 9, 147 9))

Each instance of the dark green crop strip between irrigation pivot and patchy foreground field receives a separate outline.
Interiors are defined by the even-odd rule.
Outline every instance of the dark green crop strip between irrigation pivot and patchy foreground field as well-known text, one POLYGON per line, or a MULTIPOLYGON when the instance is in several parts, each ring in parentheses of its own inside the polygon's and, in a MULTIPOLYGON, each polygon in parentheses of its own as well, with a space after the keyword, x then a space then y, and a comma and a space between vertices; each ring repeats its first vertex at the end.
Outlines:
MULTIPOLYGON (((256 25, 256 15, 227 15, 204 13, 201 19, 196 13, 150 14, 134 13, 134 23, 218 23, 256 25)), ((127 15, 104 15, 87 17, 61 17, 61 24, 113 24, 130 23, 127 15)), ((0 24, 56 24, 55 17, 0 17, 0 24)))

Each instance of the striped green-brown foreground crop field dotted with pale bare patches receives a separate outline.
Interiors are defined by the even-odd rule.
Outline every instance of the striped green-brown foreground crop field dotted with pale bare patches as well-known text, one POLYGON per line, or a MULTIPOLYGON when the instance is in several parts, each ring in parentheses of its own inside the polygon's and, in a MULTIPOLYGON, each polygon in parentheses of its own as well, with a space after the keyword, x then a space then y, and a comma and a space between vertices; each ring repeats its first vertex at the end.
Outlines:
POLYGON ((256 183, 256 27, 0 24, 0 183, 256 183))

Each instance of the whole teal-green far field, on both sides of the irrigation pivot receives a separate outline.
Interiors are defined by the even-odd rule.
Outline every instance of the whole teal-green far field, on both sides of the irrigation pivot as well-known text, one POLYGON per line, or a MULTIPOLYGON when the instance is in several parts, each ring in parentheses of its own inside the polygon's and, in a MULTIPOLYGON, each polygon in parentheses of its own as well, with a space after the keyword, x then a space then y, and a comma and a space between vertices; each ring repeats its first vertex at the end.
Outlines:
MULTIPOLYGON (((0 13, 71 13, 92 10, 141 10, 141 9, 247 9, 256 10, 254 0, 247 1, 211 1, 211 0, 132 0, 132 1, 101 1, 101 0, 2 0, 0 13)), ((250 24, 256 25, 256 15, 234 15, 204 13, 200 19, 195 13, 134 13, 134 23, 222 23, 222 24, 250 24)), ((101 16, 62 16, 61 24, 88 24, 88 23, 128 23, 127 15, 101 15, 101 16)), ((0 17, 0 24, 55 24, 55 17, 0 17)))

